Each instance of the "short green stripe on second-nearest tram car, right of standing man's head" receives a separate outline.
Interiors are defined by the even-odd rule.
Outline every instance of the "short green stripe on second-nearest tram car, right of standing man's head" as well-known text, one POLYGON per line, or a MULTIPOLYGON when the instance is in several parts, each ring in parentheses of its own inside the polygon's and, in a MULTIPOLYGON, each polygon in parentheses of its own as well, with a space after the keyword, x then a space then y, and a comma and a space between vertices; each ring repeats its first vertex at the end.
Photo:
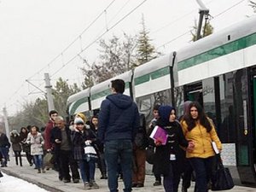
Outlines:
POLYGON ((135 85, 137 84, 143 84, 145 82, 148 82, 151 79, 159 79, 160 77, 163 77, 167 74, 170 74, 169 66, 160 68, 152 73, 145 74, 141 77, 138 77, 134 79, 135 85))

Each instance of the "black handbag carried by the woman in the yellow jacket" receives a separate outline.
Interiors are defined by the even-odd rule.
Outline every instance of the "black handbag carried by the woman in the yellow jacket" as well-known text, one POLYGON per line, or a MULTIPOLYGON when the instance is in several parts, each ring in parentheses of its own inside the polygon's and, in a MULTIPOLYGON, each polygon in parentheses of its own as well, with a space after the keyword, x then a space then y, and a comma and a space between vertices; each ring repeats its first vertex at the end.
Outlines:
POLYGON ((234 187, 229 168, 224 167, 220 154, 216 156, 217 169, 212 176, 212 190, 228 190, 234 187))

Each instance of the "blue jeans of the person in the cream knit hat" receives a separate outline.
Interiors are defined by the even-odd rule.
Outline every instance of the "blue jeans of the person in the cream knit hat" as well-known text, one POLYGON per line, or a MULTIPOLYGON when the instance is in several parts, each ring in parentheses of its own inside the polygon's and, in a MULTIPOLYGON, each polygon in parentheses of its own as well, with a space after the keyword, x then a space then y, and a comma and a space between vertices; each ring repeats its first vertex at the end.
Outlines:
POLYGON ((95 160, 79 160, 79 169, 83 182, 95 180, 95 160))

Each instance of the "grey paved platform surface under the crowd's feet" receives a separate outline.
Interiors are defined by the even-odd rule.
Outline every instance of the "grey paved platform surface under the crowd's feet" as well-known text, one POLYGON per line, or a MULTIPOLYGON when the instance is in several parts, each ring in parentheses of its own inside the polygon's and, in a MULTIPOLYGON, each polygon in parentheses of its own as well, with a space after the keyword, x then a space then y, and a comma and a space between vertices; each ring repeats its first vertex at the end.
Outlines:
MULTIPOLYGON (((8 167, 2 167, 1 171, 5 172, 8 175, 19 177, 24 179, 30 183, 37 184, 39 187, 47 189, 52 192, 84 192, 85 190, 90 190, 90 192, 107 192, 108 190, 108 182, 107 180, 100 179, 100 172, 96 169, 96 183, 100 186, 100 189, 84 189, 83 183, 63 183, 59 181, 58 174, 54 170, 46 171, 45 173, 37 173, 37 170, 33 168, 33 166, 29 166, 25 157, 22 159, 23 166, 16 166, 15 160, 13 157, 10 158, 8 167)), ((164 192, 163 186, 153 186, 154 176, 147 175, 146 181, 144 183, 143 188, 134 188, 133 191, 141 191, 141 192, 164 192)), ((189 192, 194 191, 195 183, 192 183, 192 186, 189 189, 189 192)), ((123 182, 119 180, 119 191, 123 191, 123 182)), ((179 189, 181 191, 181 189, 179 189)), ((242 186, 235 186, 233 189, 229 191, 232 192, 256 192, 256 188, 248 188, 242 186)), ((23 191, 20 191, 23 192, 23 191)), ((24 191, 25 192, 25 191, 24 191)))

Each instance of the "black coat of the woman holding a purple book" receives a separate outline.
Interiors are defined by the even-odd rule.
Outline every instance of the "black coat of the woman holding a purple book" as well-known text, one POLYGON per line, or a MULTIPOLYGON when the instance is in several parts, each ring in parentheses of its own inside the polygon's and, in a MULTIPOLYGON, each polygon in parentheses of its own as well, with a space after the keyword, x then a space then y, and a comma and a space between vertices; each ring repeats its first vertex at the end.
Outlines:
POLYGON ((154 170, 155 174, 168 174, 170 172, 169 167, 171 164, 170 155, 175 154, 178 166, 182 169, 183 153, 180 146, 187 148, 188 141, 185 139, 181 125, 175 121, 168 125, 163 125, 161 119, 156 123, 160 127, 164 128, 168 134, 168 140, 166 145, 160 145, 155 149, 154 156, 154 170))

